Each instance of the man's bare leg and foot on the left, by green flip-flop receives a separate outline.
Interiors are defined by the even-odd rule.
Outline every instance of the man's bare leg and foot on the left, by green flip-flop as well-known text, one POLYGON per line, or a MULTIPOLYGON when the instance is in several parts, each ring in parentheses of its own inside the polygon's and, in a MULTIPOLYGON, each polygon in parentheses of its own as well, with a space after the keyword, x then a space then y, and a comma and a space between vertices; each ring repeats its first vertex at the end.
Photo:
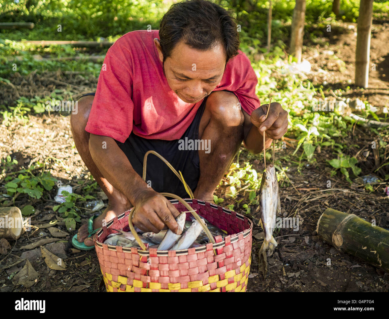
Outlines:
MULTIPOLYGON (((113 219, 115 216, 123 213, 131 208, 131 203, 119 190, 115 189, 102 175, 99 169, 96 167, 95 162, 89 153, 89 133, 86 132, 85 127, 88 122, 89 112, 92 107, 94 96, 88 95, 78 100, 78 113, 72 114, 70 118, 70 125, 72 128, 73 139, 77 151, 79 152, 81 159, 84 161, 89 172, 95 178, 98 185, 100 185, 103 192, 108 197, 108 206, 103 213, 97 217, 93 222, 93 229, 102 227, 103 219, 107 222, 113 219)), ((77 239, 79 242, 83 242, 86 246, 93 246, 92 237, 87 238, 88 225, 84 224, 80 227, 77 233, 77 239), (87 239, 86 239, 87 238, 87 239)))

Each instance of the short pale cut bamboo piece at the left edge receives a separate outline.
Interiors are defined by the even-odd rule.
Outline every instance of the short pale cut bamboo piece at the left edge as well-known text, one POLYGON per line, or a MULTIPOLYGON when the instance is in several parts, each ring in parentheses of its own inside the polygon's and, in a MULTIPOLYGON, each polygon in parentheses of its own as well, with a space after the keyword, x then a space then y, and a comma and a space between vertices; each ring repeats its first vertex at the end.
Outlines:
POLYGON ((0 207, 0 238, 16 240, 23 231, 23 217, 18 207, 0 207))

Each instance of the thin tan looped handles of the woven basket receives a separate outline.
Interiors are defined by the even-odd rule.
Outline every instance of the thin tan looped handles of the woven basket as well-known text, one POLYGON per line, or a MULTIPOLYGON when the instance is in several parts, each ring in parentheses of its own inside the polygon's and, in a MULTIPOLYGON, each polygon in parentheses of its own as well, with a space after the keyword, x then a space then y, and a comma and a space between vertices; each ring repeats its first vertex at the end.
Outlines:
MULTIPOLYGON (((184 184, 184 186, 187 187, 187 190, 189 190, 189 196, 191 196, 192 198, 193 197, 193 193, 192 193, 192 190, 189 188, 189 186, 186 184, 186 182, 184 181, 183 178, 181 178, 181 176, 177 173, 177 171, 174 169, 174 167, 161 155, 159 155, 157 152, 155 151, 148 151, 146 152, 145 156, 144 156, 144 159, 143 159, 143 180, 145 181, 146 180, 146 164, 147 164, 147 155, 149 154, 154 154, 156 156, 158 156, 161 160, 163 160, 163 162, 173 171, 173 173, 180 179, 180 181, 184 184)), ((195 217, 195 219, 200 223, 201 227, 203 228, 203 231, 205 232, 205 234, 207 234, 207 237, 209 238, 209 240, 212 242, 212 243, 216 243, 212 234, 210 233, 209 229, 207 228, 207 226, 205 226, 205 224, 203 223, 203 221, 201 220, 201 217, 193 210, 193 208, 191 208, 191 206, 188 205, 188 203, 186 203, 186 201, 184 201, 184 199, 182 199, 181 197, 175 195, 175 194, 171 194, 171 193, 160 193, 161 195, 163 196, 167 196, 167 197, 172 197, 174 199, 177 199, 181 204, 183 204, 189 211, 190 213, 193 215, 193 217, 195 217)), ((131 210, 130 212, 130 215, 128 215, 128 226, 130 226, 130 230, 131 230, 131 233, 134 235, 135 239, 137 240, 137 243, 140 245, 140 247, 143 249, 143 250, 146 250, 146 246, 145 244, 140 240, 137 232, 135 231, 135 228, 132 224, 132 218, 133 216, 135 215, 135 211, 136 211, 136 207, 134 206, 133 209, 131 210)))

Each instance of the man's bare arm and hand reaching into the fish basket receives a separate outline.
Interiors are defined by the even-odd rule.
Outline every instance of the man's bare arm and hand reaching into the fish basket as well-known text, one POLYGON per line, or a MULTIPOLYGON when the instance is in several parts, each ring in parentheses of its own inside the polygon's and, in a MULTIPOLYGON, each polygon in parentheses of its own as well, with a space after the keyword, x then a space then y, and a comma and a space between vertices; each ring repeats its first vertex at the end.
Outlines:
POLYGON ((136 226, 154 233, 165 225, 174 233, 178 231, 175 218, 179 212, 164 196, 147 186, 112 137, 90 134, 89 152, 107 181, 137 208, 133 217, 136 226))

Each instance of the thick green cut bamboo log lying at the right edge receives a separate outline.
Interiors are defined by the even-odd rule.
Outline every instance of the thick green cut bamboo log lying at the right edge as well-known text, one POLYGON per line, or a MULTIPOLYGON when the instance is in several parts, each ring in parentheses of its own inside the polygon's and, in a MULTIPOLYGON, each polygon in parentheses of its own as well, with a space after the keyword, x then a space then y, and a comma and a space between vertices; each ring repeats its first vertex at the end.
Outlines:
POLYGON ((354 214, 328 208, 317 222, 317 234, 336 249, 389 272, 389 231, 354 214))

